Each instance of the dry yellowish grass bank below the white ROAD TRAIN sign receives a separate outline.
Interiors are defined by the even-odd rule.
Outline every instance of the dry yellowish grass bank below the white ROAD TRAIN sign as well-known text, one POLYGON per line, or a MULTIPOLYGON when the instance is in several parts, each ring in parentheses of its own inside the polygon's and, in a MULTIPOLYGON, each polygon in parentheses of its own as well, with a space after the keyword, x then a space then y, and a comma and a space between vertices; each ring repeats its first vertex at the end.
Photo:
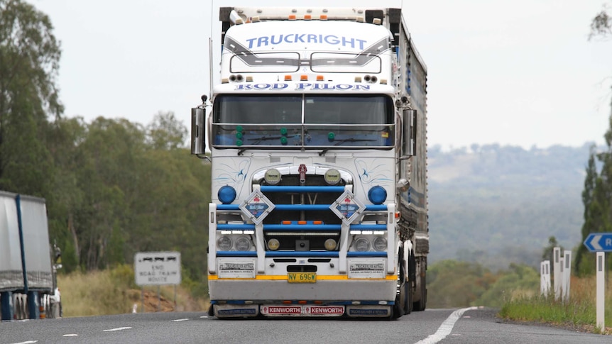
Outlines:
MULTIPOLYGON (((58 276, 62 292, 64 316, 99 316, 133 312, 134 305, 142 311, 143 290, 134 284, 131 267, 123 265, 113 270, 83 274, 73 272, 58 276)), ((161 286, 144 289, 144 309, 158 311, 204 311, 205 300, 193 299, 183 287, 161 286)))

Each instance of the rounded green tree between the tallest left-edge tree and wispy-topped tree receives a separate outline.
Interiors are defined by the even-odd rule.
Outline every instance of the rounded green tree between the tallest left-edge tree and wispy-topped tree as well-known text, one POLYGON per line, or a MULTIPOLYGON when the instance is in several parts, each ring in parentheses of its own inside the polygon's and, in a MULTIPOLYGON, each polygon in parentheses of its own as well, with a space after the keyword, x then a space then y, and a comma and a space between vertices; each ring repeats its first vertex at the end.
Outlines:
POLYGON ((86 270, 124 262, 124 242, 132 216, 130 203, 137 194, 144 137, 138 124, 99 117, 87 126, 78 144, 75 165, 82 201, 70 226, 76 237, 77 257, 86 270))

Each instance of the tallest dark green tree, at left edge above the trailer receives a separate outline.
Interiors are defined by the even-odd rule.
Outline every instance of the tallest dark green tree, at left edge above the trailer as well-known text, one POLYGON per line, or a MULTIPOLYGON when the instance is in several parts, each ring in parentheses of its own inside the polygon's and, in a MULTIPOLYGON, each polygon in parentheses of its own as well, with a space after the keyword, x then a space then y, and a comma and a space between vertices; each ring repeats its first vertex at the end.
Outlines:
POLYGON ((0 189, 45 196, 53 182, 48 116, 59 118, 60 45, 48 16, 0 0, 0 189))

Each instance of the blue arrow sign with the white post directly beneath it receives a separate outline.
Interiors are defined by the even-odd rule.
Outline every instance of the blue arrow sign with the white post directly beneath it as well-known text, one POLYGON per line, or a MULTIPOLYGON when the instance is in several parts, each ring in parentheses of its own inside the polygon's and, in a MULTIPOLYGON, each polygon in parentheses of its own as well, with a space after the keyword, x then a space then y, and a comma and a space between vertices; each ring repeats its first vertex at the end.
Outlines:
POLYGON ((596 313, 597 320, 596 326, 603 329, 605 328, 605 322, 603 318, 603 311, 605 310, 605 280, 604 274, 606 271, 606 252, 612 252, 612 233, 591 233, 584 239, 584 246, 589 251, 597 253, 596 256, 596 270, 597 270, 597 287, 596 287, 596 313))

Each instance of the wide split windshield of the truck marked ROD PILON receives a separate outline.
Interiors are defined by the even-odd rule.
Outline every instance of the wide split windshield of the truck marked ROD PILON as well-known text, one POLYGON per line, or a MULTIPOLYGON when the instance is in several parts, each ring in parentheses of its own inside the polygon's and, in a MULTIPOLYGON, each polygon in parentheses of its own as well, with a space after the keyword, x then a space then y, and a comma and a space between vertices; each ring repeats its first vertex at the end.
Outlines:
POLYGON ((224 95, 214 101, 217 148, 390 148, 393 101, 384 95, 224 95))

